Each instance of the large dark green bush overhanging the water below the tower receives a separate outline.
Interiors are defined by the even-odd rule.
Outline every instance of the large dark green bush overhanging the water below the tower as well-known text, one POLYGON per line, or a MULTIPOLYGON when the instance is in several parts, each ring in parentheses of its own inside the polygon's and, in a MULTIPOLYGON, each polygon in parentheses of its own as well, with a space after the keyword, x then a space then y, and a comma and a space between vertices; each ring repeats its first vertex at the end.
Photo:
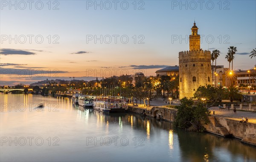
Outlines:
POLYGON ((193 105, 192 99, 184 97, 180 99, 181 104, 176 106, 178 109, 175 126, 183 128, 188 131, 202 131, 204 127, 202 124, 209 122, 209 111, 202 102, 193 105))

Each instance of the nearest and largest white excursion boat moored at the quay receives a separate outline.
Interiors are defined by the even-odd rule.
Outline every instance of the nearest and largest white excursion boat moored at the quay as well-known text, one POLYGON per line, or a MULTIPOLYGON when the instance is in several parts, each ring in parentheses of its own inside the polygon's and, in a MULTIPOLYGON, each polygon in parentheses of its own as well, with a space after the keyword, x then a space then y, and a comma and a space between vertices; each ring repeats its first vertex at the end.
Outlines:
POLYGON ((127 102, 124 97, 108 96, 97 97, 93 101, 93 108, 102 112, 122 112, 128 108, 127 102))

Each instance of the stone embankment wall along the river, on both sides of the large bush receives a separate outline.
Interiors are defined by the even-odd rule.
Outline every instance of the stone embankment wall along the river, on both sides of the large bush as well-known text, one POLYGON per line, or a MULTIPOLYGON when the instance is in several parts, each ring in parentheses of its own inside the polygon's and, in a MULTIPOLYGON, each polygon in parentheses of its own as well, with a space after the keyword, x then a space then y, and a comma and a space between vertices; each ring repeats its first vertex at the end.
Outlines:
MULTIPOLYGON (((163 120, 174 122, 177 116, 177 109, 153 107, 153 108, 136 108, 128 107, 130 112, 146 115, 148 117, 161 118, 163 120)), ((209 116, 215 118, 215 122, 210 122, 208 125, 204 125, 207 132, 217 134, 219 136, 225 136, 225 134, 231 134, 233 137, 241 139, 241 142, 248 143, 250 145, 256 145, 256 124, 247 122, 246 124, 240 124, 238 120, 227 119, 219 117, 218 115, 209 116), (216 123, 218 122, 218 123, 216 123), (224 129, 223 129, 224 128, 224 129), (225 132, 225 131, 228 132, 225 132)), ((210 119, 212 121, 212 119, 210 119)))

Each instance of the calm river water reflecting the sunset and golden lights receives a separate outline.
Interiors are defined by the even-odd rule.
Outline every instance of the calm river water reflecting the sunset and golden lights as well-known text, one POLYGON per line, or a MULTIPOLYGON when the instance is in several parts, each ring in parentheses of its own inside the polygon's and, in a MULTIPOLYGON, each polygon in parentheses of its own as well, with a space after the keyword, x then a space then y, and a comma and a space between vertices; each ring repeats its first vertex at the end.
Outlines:
POLYGON ((239 140, 138 114, 103 114, 69 98, 1 93, 0 102, 0 161, 256 161, 256 148, 239 140))

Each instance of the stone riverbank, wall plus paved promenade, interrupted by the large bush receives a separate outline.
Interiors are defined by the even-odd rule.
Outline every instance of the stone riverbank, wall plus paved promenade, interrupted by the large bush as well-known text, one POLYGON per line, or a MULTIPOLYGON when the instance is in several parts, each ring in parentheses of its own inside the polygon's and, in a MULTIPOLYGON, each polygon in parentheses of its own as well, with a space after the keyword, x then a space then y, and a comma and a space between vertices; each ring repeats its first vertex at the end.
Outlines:
MULTIPOLYGON (((177 109, 175 108, 167 108, 167 107, 134 107, 129 105, 128 111, 145 115, 148 117, 153 117, 157 119, 163 119, 169 122, 174 122, 175 117, 177 116, 177 109)), ((246 112, 246 111, 237 111, 232 116, 232 111, 224 113, 224 110, 218 111, 217 108, 213 107, 211 109, 215 111, 215 115, 209 116, 210 123, 208 125, 204 125, 206 131, 218 136, 223 137, 233 137, 236 139, 240 139, 241 142, 247 143, 249 145, 256 146, 256 123, 254 122, 254 118, 256 118, 255 112, 246 112), (221 114, 221 115, 218 115, 221 114), (237 118, 239 116, 247 115, 249 122, 247 123, 239 123, 237 118), (250 117, 249 117, 250 115, 250 117)))

